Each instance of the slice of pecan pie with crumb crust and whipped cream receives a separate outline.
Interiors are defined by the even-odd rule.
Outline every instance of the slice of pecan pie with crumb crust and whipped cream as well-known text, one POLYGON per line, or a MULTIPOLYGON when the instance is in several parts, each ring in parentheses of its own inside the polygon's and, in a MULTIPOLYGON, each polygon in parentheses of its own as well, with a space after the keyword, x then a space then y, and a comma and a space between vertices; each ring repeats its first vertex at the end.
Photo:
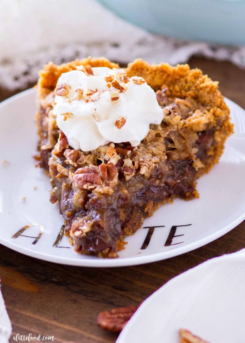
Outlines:
MULTIPOLYGON (((61 66, 49 63, 40 72, 37 84, 39 148, 41 165, 51 176, 50 201, 59 203, 75 251, 99 257, 116 257, 116 252, 124 248, 125 236, 134 234, 160 205, 176 197, 198 198, 196 179, 218 162, 224 142, 233 131, 218 83, 200 70, 190 70, 187 64, 150 66, 142 60, 124 70, 118 68, 105 58, 61 66), (116 68, 115 77, 110 73, 105 77, 106 86, 111 87, 109 93, 89 88, 97 67, 116 68), (68 74, 73 80, 79 78, 81 74, 77 76, 75 70, 91 76, 86 79, 86 89, 77 87, 74 91, 69 79, 58 82, 60 77, 66 80, 68 74), (137 108, 144 111, 140 95, 144 82, 155 91, 162 108, 162 119, 152 120, 145 134, 143 119, 133 117, 137 108), (126 89, 131 83, 139 87, 135 88, 139 96, 134 94, 137 99, 132 113, 128 107, 128 113, 110 121, 105 111, 102 121, 98 114, 102 96, 104 99, 110 94, 108 104, 116 103, 120 96, 127 100, 126 89), (72 92, 73 98, 69 96, 72 92), (81 107, 85 112, 93 107, 93 122, 92 117, 89 124, 84 121, 87 119, 81 107), (90 124, 91 129, 87 126, 90 124), (76 139, 65 134, 66 125, 76 139), (96 136, 98 142, 93 139, 95 129, 102 132, 99 138, 96 136), (121 134, 123 130, 126 136, 121 134), (143 139, 137 142, 134 136, 139 131, 143 139), (123 137, 129 139, 122 141, 123 137), (86 151, 88 148, 91 150, 86 151)), ((80 84, 77 79, 74 82, 80 84)))

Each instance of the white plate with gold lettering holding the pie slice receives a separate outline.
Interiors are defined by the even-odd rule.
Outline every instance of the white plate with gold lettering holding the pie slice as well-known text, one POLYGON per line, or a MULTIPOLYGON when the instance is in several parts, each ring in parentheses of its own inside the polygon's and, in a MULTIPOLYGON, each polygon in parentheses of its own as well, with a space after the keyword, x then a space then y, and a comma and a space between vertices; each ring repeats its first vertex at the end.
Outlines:
POLYGON ((198 180, 200 198, 176 199, 162 206, 145 220, 144 228, 127 238, 128 245, 119 258, 100 259, 76 254, 66 237, 53 246, 63 216, 57 204, 49 202, 49 178, 44 170, 35 168, 32 157, 38 140, 35 91, 5 100, 0 105, 0 243, 47 261, 115 267, 177 256, 224 235, 245 218, 245 111, 226 101, 236 132, 227 140, 220 163, 198 180), (3 160, 9 164, 1 163, 3 160), (34 223, 38 225, 24 229, 34 223), (154 233, 147 248, 141 249, 149 227, 154 233), (17 234, 21 228, 22 233, 17 234))

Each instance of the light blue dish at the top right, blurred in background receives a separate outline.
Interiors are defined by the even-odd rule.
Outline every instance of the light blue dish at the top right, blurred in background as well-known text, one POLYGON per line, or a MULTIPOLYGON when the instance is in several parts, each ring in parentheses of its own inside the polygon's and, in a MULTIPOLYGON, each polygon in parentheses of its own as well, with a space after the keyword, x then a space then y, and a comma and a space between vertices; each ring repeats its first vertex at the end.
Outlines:
POLYGON ((166 36, 245 45, 245 0, 99 0, 121 18, 166 36))

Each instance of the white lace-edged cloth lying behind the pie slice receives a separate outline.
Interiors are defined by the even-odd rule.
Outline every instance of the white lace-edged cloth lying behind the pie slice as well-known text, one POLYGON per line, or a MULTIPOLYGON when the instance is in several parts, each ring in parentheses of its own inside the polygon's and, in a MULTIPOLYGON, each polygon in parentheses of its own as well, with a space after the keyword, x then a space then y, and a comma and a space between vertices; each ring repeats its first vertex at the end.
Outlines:
POLYGON ((188 61, 192 55, 229 60, 245 67, 245 47, 184 42, 145 32, 95 0, 0 2, 0 85, 11 90, 37 80, 48 61, 60 64, 87 56, 128 63, 188 61))

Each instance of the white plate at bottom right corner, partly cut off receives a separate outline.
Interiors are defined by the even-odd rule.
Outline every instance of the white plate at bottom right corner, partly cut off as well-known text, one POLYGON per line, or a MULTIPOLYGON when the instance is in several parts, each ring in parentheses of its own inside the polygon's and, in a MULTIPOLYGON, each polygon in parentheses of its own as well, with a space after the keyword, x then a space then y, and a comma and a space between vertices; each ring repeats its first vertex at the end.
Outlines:
POLYGON ((175 277, 144 301, 116 343, 179 343, 187 329, 212 343, 245 342, 245 249, 175 277))

